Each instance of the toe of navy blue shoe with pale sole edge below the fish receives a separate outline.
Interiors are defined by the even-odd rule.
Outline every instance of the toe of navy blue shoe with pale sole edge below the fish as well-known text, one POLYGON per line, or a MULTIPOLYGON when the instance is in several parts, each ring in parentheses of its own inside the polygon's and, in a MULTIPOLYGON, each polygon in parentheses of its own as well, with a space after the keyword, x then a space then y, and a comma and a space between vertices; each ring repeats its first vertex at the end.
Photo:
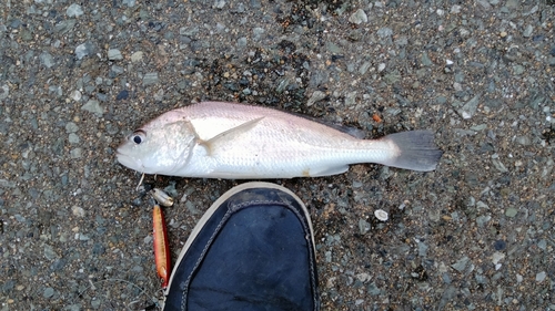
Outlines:
POLYGON ((163 310, 320 310, 314 253, 299 197, 274 184, 242 184, 194 227, 163 310))

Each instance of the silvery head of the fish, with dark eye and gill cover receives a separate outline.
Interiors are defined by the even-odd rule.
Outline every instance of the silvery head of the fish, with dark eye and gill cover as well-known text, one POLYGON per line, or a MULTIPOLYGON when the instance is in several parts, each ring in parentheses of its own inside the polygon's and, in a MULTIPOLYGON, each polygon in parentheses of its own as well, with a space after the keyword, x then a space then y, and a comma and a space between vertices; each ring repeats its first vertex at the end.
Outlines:
POLYGON ((128 135, 117 157, 137 172, 171 176, 186 165, 195 137, 189 122, 175 113, 165 113, 128 135))

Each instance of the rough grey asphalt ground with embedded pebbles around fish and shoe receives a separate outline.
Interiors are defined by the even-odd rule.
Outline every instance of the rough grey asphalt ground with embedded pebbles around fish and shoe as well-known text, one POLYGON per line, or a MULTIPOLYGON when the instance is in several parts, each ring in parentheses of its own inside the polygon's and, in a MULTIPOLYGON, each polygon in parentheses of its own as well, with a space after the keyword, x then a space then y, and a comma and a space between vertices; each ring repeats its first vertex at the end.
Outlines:
MULTIPOLYGON (((234 101, 428 128, 435 172, 271 180, 311 208, 323 310, 555 310, 553 0, 0 3, 0 310, 161 298, 151 205, 123 137, 234 101), (389 212, 381 221, 376 209, 389 212)), ((243 182, 147 176, 173 260, 243 182)))

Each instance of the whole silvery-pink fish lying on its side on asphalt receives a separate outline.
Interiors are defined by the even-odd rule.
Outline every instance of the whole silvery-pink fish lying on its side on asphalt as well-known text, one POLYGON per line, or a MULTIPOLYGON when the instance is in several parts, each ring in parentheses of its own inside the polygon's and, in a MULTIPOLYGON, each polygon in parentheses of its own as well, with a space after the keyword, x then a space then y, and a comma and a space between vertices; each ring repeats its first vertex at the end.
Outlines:
POLYGON ((143 174, 268 179, 342 174, 359 163, 434 170, 443 154, 427 129, 362 139, 339 126, 274 108, 201 102, 161 114, 117 149, 143 174))

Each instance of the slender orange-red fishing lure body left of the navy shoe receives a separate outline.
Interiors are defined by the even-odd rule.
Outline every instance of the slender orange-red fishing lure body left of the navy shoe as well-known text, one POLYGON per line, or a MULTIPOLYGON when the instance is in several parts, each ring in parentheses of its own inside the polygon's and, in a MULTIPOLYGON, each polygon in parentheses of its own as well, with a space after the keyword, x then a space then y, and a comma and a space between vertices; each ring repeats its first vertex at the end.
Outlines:
POLYGON ((154 205, 154 210, 152 212, 153 221, 153 237, 154 237, 154 257, 157 261, 157 271, 160 278, 162 278, 162 288, 168 287, 170 281, 170 247, 168 245, 168 232, 165 231, 165 220, 162 214, 162 208, 160 205, 154 205))

